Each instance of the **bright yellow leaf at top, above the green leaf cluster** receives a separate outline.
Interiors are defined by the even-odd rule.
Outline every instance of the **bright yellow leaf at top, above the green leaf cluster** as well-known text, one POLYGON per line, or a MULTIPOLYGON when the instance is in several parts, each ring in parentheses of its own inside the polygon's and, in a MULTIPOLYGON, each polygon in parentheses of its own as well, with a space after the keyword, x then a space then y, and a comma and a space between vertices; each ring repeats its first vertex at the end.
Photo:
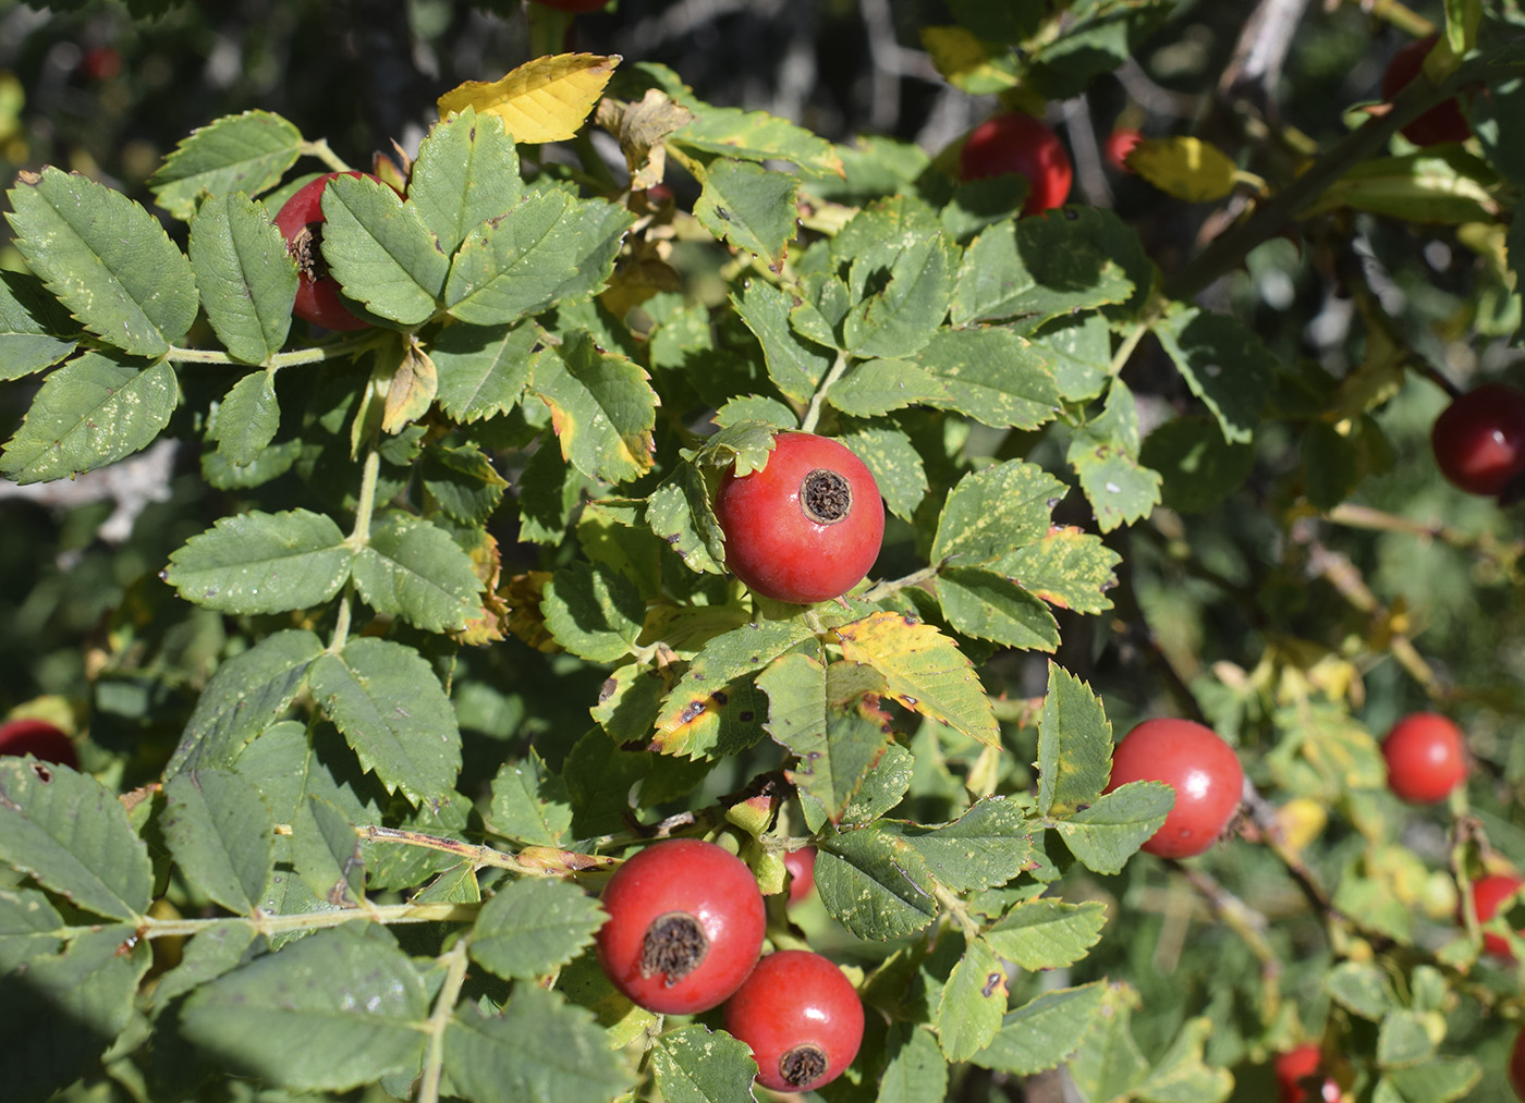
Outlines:
POLYGON ((439 98, 439 117, 474 107, 502 119, 515 142, 561 142, 578 133, 619 62, 618 53, 535 58, 502 79, 451 88, 439 98))

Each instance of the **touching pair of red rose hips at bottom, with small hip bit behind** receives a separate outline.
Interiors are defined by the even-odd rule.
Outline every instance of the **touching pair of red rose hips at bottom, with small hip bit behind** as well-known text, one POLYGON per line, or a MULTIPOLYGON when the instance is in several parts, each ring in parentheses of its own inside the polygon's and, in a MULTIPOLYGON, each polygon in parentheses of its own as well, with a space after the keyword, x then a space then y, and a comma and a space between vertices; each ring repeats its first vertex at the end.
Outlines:
POLYGON ((758 1083, 775 1091, 819 1088, 852 1063, 863 1041, 857 990, 819 954, 762 955, 762 894, 729 850, 654 842, 619 867, 599 899, 608 919, 598 961, 631 1002, 663 1015, 724 1004, 726 1031, 752 1048, 758 1083))

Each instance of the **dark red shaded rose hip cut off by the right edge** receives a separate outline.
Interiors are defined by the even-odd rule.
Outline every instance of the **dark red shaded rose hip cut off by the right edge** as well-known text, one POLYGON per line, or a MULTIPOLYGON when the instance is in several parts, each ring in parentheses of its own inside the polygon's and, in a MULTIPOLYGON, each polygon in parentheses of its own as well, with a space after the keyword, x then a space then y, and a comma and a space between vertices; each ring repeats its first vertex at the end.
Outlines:
POLYGON ((1453 486, 1499 494, 1525 471, 1525 393, 1502 382, 1469 390, 1435 419, 1430 449, 1453 486))

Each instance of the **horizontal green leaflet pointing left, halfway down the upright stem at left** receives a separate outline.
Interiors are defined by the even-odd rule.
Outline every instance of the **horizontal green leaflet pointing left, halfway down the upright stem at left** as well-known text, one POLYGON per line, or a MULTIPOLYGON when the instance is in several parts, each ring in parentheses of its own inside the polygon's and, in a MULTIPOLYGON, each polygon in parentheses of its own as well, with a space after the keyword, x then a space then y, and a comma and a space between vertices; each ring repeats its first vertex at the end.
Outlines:
POLYGON ((223 612, 308 609, 349 580, 354 552, 331 518, 307 509, 233 513, 169 556, 165 582, 223 612))

